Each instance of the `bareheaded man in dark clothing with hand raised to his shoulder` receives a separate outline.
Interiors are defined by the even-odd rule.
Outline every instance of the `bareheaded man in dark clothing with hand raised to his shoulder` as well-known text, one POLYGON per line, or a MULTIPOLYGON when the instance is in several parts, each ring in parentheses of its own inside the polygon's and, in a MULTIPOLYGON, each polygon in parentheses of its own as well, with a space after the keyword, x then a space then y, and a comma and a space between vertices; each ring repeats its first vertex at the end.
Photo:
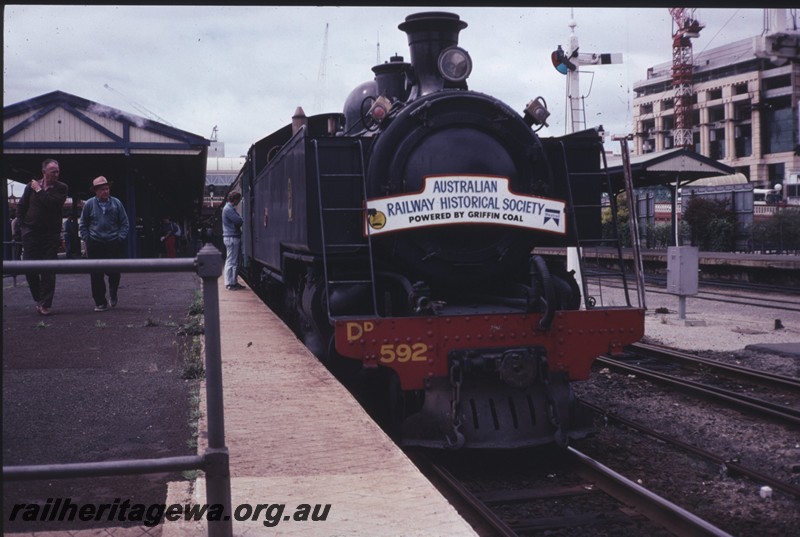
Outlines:
MULTIPOLYGON (((61 245, 61 217, 69 191, 66 184, 58 180, 58 162, 47 159, 42 163, 42 178, 33 179, 25 187, 17 205, 20 233, 22 235, 22 259, 58 259, 61 245)), ((31 296, 40 315, 52 314, 53 297, 56 292, 54 272, 25 274, 31 296)))

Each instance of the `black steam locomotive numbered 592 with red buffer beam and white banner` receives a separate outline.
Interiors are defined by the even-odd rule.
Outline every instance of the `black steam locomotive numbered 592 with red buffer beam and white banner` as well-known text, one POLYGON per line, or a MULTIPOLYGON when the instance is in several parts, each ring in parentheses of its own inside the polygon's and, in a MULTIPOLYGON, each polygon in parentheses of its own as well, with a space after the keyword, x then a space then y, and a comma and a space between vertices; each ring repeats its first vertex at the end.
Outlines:
POLYGON ((565 444, 591 431, 570 383, 641 338, 644 312, 597 307, 535 254, 618 245, 600 233, 602 138, 540 137, 543 99, 518 113, 470 90, 466 26, 408 16, 410 62, 250 148, 240 272, 402 444, 565 444))

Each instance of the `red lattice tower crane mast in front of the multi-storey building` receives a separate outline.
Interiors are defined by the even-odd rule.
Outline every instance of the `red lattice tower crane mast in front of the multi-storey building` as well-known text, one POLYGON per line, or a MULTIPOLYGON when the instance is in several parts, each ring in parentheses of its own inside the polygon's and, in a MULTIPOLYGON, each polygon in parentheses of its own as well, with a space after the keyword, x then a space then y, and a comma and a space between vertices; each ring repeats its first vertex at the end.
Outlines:
POLYGON ((704 28, 694 18, 694 8, 673 7, 672 15, 672 87, 675 90, 673 138, 675 147, 692 147, 692 41, 704 28))

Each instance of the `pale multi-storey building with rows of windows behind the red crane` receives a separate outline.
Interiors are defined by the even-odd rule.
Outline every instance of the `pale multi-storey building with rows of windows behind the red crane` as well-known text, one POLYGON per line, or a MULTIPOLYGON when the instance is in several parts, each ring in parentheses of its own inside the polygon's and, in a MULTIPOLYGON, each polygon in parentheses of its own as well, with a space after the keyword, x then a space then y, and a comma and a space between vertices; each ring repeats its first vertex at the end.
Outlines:
MULTIPOLYGON (((785 19, 779 19, 785 21, 785 19)), ((796 19, 694 56, 694 150, 744 174, 761 188, 780 185, 800 204, 800 32, 796 19), (781 26, 783 28, 784 26, 781 26)), ((671 62, 647 70, 634 84, 636 155, 674 147, 671 62)))

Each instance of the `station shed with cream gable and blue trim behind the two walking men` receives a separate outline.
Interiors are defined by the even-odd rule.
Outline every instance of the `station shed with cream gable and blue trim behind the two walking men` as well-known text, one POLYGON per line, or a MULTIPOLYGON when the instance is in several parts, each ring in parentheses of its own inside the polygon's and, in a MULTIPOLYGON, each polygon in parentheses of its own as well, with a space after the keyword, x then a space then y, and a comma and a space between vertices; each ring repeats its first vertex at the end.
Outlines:
MULTIPOLYGON (((82 202, 94 195, 92 180, 105 176, 131 222, 131 257, 159 255, 165 217, 181 224, 189 239, 186 254, 194 254, 209 144, 202 136, 62 91, 3 108, 5 178, 28 183, 41 177, 42 161, 58 160, 71 198, 66 217, 80 214, 82 202)), ((8 210, 6 203, 6 222, 8 210)))

